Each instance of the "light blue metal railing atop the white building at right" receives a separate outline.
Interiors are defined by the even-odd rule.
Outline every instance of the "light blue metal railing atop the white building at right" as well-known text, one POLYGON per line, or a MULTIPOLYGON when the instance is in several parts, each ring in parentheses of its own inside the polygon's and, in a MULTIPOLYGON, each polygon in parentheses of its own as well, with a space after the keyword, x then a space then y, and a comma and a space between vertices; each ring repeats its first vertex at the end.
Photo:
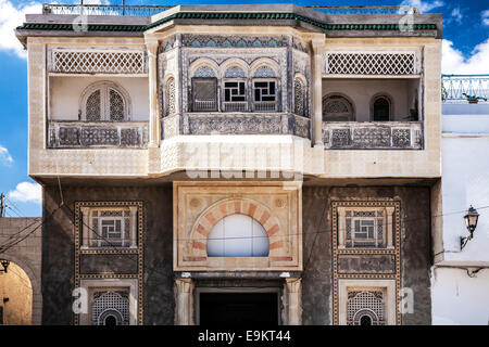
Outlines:
POLYGON ((489 99, 489 75, 441 75, 444 103, 480 103, 489 99))

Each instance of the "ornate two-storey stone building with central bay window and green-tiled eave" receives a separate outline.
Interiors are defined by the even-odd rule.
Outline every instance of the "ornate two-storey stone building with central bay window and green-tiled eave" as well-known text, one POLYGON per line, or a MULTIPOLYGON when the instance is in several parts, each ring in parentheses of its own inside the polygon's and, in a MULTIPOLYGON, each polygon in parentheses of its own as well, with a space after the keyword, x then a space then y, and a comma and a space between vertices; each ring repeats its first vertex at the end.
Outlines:
POLYGON ((42 323, 430 324, 441 15, 116 10, 16 29, 42 323))

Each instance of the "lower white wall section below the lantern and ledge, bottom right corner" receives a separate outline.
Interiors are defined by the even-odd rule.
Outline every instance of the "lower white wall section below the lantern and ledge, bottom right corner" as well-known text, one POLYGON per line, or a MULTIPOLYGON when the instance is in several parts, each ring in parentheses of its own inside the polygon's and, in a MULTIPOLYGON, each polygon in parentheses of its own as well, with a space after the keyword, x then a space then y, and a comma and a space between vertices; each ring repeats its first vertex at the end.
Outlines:
POLYGON ((469 278, 464 269, 437 268, 431 277, 434 325, 489 324, 489 269, 469 278))

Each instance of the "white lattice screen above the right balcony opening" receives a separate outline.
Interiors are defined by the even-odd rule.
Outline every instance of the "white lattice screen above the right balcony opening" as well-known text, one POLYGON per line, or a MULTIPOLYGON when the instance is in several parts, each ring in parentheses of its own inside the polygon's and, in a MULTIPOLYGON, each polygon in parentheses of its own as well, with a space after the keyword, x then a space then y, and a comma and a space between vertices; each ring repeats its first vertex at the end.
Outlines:
POLYGON ((416 75, 416 52, 327 52, 324 73, 328 75, 416 75))

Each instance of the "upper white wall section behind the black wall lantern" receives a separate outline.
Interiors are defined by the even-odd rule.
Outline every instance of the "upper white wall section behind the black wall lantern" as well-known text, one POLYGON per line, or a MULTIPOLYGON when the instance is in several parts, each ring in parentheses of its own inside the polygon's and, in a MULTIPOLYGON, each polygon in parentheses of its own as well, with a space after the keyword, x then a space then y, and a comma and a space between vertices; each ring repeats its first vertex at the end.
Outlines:
POLYGON ((489 208, 482 208, 489 206, 489 113, 443 115, 442 129, 444 259, 489 266, 489 208), (480 214, 479 222, 474 239, 460 252, 469 205, 480 214))

